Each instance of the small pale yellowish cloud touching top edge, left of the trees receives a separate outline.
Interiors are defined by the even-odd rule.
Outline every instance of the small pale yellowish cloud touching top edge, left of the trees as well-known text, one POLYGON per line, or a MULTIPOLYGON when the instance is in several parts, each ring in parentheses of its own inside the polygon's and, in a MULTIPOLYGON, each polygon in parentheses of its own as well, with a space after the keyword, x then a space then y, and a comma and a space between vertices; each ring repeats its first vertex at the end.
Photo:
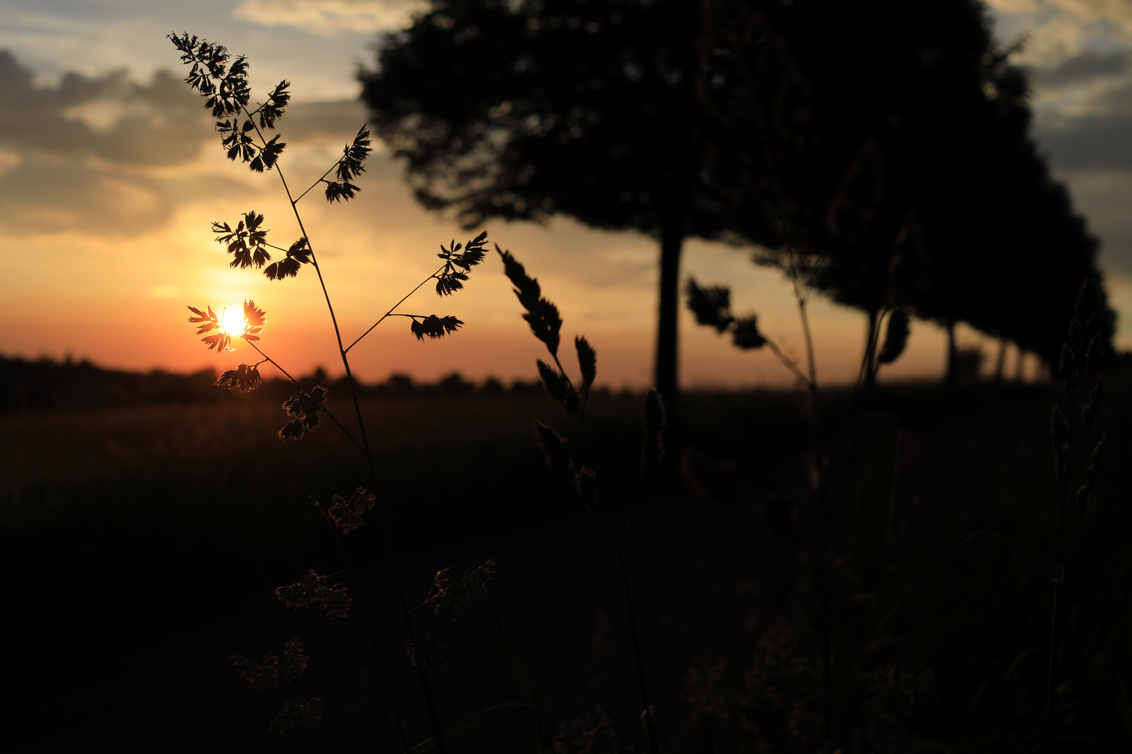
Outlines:
POLYGON ((404 25, 412 0, 243 0, 232 18, 264 26, 293 26, 319 36, 368 34, 404 25))

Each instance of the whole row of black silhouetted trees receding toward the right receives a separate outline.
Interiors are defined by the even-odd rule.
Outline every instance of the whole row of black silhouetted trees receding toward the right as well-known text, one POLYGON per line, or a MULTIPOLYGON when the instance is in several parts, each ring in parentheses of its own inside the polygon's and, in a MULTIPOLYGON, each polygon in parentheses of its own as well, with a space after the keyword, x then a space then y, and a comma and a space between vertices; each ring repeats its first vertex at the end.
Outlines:
POLYGON ((432 0, 361 80, 423 206, 658 239, 675 409, 689 236, 1055 359, 1098 243, 1009 58, 977 0, 432 0))

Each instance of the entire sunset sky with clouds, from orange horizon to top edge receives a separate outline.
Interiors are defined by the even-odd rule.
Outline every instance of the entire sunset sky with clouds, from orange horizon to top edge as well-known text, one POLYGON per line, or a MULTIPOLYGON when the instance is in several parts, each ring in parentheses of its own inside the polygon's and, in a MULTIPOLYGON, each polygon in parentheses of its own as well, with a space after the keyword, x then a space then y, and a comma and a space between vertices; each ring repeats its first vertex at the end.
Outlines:
MULTIPOLYGON (((1103 240, 1100 265, 1122 315, 1117 346, 1132 347, 1124 323, 1132 314, 1132 2, 990 6, 1002 42, 1027 40, 1018 60, 1032 69, 1036 138, 1103 240)), ((224 158, 165 35, 187 31, 248 55, 254 99, 291 81, 281 166, 306 188, 366 120, 354 75, 372 59, 377 33, 403 24, 412 8, 398 0, 0 0, 0 354, 69 354, 131 370, 230 369, 252 355, 246 346, 206 350, 186 305, 254 298, 267 311, 266 353, 292 373, 319 364, 336 372, 311 270, 269 283, 230 269, 214 242, 213 220, 234 224, 250 209, 266 216, 277 245, 300 233, 276 175, 224 158)), ((440 243, 475 233, 419 208, 401 166, 378 147, 357 200, 331 207, 312 192, 300 203, 350 340, 436 268, 440 243)), ((563 313, 564 335, 584 333, 597 347, 599 382, 649 382, 654 241, 560 219, 486 229, 539 278, 563 313)), ((747 250, 691 241, 684 275, 729 284, 735 307, 757 312, 761 329, 800 355, 790 288, 781 274, 752 265, 747 250)), ((424 286, 401 311, 454 314, 466 324, 419 343, 406 320, 386 321, 353 352, 363 379, 406 372, 432 380, 454 370, 530 379, 542 355, 494 253, 465 291, 441 301, 424 286)), ((813 324, 820 380, 854 376, 864 315, 816 298, 813 324)), ((686 313, 680 328, 685 384, 790 382, 765 349, 737 352, 686 313)), ((996 346, 968 329, 960 337, 985 343, 994 361, 996 346)), ((909 350, 882 378, 938 374, 943 361, 942 331, 916 321, 909 350)))

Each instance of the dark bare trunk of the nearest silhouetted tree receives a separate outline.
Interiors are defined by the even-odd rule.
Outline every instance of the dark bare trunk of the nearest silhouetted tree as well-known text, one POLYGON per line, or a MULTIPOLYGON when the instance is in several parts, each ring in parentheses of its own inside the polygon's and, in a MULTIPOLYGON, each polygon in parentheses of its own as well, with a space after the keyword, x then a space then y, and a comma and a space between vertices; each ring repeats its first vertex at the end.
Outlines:
POLYGON ((668 414, 666 445, 677 451, 679 436, 680 395, 677 374, 677 324, 680 311, 680 249, 684 245, 684 223, 666 223, 660 235, 660 318, 657 328, 655 388, 664 399, 668 414))

